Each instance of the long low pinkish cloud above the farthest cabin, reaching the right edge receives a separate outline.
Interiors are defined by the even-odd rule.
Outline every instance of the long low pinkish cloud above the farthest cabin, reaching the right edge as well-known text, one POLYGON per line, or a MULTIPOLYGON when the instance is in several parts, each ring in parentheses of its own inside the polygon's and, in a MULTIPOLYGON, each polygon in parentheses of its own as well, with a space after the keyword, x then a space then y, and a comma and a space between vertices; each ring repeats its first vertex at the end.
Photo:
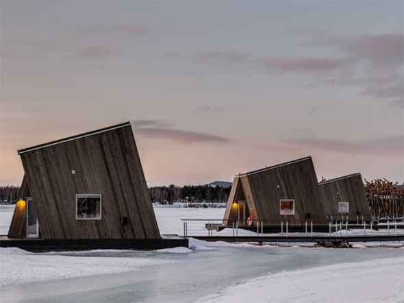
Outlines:
POLYGON ((324 138, 298 138, 285 141, 292 145, 321 149, 325 151, 337 151, 343 154, 385 154, 401 155, 404 153, 403 136, 387 136, 355 142, 338 141, 324 138))

